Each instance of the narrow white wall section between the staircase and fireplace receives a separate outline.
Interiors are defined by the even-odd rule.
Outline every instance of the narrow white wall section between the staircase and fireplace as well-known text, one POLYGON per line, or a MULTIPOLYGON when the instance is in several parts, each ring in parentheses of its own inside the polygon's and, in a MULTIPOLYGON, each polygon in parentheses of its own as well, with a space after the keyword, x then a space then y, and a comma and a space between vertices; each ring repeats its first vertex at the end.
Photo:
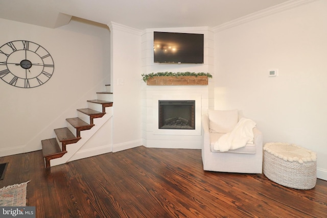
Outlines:
POLYGON ((142 145, 141 31, 111 22, 112 152, 142 145))

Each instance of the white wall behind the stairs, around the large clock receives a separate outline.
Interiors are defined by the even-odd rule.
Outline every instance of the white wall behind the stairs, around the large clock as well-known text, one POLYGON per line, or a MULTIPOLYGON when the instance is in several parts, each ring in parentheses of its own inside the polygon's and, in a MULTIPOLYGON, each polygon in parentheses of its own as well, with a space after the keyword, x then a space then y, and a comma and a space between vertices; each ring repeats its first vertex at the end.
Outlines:
POLYGON ((41 140, 76 117, 86 100, 96 99, 110 82, 108 27, 81 19, 57 29, 0 19, 0 45, 29 40, 52 55, 55 69, 43 85, 24 89, 0 80, 0 156, 36 151, 41 140))

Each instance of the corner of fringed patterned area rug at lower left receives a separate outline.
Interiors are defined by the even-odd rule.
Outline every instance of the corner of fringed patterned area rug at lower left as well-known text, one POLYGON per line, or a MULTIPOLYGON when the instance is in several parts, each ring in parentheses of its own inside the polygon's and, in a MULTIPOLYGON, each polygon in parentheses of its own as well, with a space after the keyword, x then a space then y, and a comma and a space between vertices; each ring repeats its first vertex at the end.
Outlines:
POLYGON ((28 182, 1 188, 0 206, 26 206, 26 188, 28 182))

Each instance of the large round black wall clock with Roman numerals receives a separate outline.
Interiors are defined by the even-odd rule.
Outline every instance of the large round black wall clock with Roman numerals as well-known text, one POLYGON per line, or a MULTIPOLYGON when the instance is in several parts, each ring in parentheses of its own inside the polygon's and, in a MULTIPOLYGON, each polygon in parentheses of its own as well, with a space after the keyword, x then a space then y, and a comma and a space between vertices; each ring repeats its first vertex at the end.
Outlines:
POLYGON ((25 40, 8 42, 0 47, 0 78, 20 88, 33 88, 48 81, 54 62, 41 45, 25 40))

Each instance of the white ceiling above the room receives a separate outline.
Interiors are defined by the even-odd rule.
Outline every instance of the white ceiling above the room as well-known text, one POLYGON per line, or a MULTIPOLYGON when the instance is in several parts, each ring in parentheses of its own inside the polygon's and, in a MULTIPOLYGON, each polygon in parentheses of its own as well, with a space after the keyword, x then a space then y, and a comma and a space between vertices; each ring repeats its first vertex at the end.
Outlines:
POLYGON ((57 28, 71 17, 139 30, 216 27, 285 2, 299 0, 0 0, 0 18, 57 28))

